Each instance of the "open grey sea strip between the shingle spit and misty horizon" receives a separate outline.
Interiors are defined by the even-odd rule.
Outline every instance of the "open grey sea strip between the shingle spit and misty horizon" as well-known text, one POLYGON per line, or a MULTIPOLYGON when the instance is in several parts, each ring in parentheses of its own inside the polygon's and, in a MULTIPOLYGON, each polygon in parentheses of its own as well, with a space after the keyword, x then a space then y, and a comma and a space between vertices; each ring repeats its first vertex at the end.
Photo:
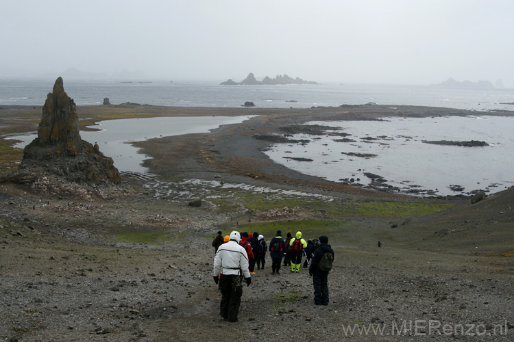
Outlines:
MULTIPOLYGON (((1 105, 43 105, 53 88, 51 79, 0 79, 1 105)), ((476 111, 513 110, 513 89, 388 86, 373 84, 317 84, 285 86, 220 86, 215 82, 77 81, 64 79, 64 90, 77 106, 139 103, 180 107, 310 108, 339 105, 423 105, 476 111)))

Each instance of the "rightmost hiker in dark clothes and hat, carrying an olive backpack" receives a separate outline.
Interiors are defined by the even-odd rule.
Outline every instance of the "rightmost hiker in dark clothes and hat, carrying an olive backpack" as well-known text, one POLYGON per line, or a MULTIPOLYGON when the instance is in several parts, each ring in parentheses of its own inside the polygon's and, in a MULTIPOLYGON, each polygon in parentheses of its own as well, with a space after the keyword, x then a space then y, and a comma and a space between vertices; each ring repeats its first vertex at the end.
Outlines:
POLYGON ((321 235, 319 237, 319 247, 316 248, 313 259, 310 262, 309 276, 313 277, 314 285, 314 302, 316 305, 328 305, 328 272, 321 271, 318 267, 318 263, 325 253, 332 253, 332 259, 334 258, 334 250, 328 244, 328 237, 321 235))

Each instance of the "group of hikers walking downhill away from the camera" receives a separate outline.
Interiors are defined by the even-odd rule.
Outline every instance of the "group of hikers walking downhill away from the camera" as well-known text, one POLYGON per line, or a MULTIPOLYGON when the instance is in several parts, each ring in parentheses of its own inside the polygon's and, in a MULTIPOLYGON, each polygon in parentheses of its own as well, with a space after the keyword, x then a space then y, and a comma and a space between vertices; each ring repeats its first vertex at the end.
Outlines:
POLYGON ((220 315, 227 321, 237 321, 241 295, 243 295, 243 279, 249 286, 252 274, 257 269, 264 269, 266 254, 271 257, 271 274, 280 274, 282 262, 291 265, 291 272, 299 272, 302 257, 304 267, 308 267, 309 276, 313 277, 314 302, 316 305, 328 305, 328 273, 332 269, 334 250, 328 244, 328 237, 321 235, 319 239, 302 238, 302 232, 295 237, 287 233, 286 239, 282 232, 266 243, 264 237, 257 232, 252 236, 248 233, 232 231, 223 237, 221 231, 212 241, 215 248, 214 269, 212 277, 221 291, 220 315))

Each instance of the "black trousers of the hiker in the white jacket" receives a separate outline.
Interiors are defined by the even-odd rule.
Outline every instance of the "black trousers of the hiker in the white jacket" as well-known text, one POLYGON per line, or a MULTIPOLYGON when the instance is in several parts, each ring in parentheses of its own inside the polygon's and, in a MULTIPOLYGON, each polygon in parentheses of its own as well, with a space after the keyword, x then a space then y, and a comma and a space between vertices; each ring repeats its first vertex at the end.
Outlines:
POLYGON ((221 291, 219 314, 230 321, 237 321, 241 295, 243 295, 242 277, 221 274, 218 287, 221 291))

